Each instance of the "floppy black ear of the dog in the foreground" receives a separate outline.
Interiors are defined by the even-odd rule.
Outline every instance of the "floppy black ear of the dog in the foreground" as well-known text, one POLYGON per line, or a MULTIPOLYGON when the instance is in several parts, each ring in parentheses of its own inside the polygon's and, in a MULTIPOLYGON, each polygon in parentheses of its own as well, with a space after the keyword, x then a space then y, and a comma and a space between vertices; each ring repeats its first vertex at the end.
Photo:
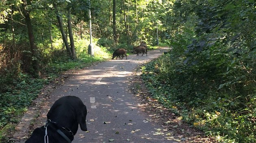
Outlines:
POLYGON ((86 106, 83 105, 82 108, 80 108, 77 113, 78 113, 77 122, 79 123, 81 130, 87 131, 87 126, 86 126, 87 109, 86 109, 86 106))

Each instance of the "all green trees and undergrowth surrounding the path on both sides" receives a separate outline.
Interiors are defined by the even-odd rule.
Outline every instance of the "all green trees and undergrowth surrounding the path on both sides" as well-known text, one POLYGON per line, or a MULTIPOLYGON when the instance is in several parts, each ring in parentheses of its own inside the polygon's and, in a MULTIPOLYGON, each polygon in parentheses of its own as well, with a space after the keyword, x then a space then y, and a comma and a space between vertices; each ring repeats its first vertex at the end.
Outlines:
POLYGON ((61 71, 159 40, 152 95, 219 141, 256 142, 255 15, 254 0, 0 0, 0 129, 61 71))

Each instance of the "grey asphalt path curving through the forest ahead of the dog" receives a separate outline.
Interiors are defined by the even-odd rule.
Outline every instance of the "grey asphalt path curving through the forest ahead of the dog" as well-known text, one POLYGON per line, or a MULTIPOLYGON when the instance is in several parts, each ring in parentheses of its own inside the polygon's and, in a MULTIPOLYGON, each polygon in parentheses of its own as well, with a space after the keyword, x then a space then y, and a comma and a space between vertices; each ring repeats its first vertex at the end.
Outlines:
POLYGON ((135 67, 167 50, 98 63, 69 75, 62 86, 53 90, 52 99, 77 96, 87 106, 88 132, 79 128, 72 143, 173 143, 163 135, 153 135, 156 129, 163 128, 147 121, 148 114, 129 89, 135 67))

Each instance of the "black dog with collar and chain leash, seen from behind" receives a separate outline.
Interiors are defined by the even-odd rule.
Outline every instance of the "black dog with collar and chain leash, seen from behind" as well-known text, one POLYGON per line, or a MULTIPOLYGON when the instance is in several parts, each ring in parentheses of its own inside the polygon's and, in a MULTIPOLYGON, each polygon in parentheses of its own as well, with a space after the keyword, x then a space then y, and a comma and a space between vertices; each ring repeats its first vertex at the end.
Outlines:
POLYGON ((71 143, 78 130, 87 131, 86 106, 75 96, 61 97, 47 114, 45 126, 36 128, 26 143, 71 143))

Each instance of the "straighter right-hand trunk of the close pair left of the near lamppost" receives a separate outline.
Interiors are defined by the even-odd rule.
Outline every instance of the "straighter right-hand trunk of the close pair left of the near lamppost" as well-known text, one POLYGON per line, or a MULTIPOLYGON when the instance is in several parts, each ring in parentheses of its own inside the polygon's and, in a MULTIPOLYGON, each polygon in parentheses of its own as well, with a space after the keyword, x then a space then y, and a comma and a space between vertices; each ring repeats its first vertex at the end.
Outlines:
POLYGON ((69 8, 67 13, 67 28, 68 28, 68 34, 69 34, 69 40, 70 40, 70 48, 72 52, 72 59, 76 59, 75 44, 74 44, 74 38, 73 38, 73 32, 72 32, 71 8, 69 8))

